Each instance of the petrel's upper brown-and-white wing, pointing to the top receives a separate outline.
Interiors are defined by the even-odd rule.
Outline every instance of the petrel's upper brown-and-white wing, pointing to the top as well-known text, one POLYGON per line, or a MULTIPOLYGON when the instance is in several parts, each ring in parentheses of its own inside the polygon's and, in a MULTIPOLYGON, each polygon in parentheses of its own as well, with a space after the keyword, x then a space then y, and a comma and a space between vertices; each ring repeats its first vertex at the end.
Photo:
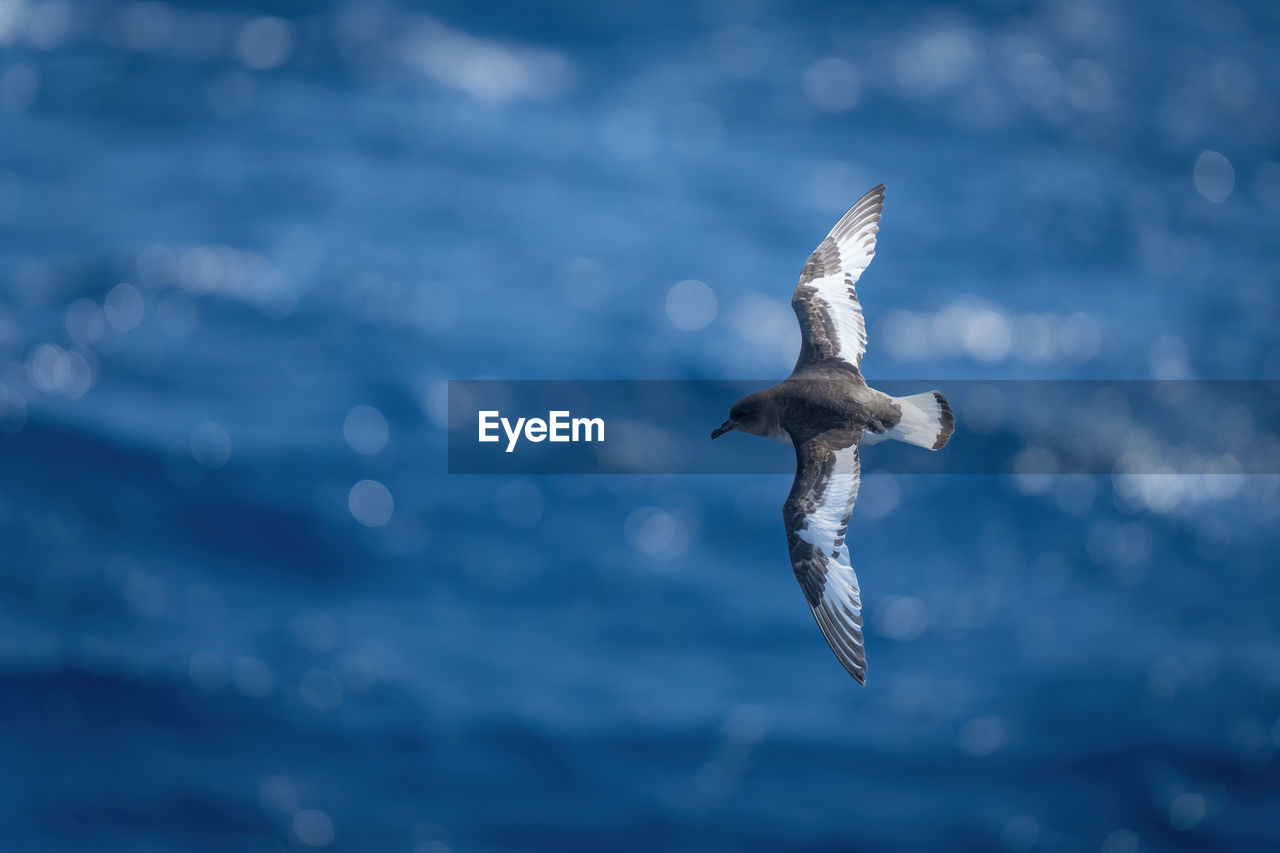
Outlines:
POLYGON ((840 218, 800 270, 800 282, 791 296, 801 334, 797 371, 828 359, 840 359, 854 368, 861 365, 867 325, 854 286, 876 255, 883 202, 882 183, 840 218))

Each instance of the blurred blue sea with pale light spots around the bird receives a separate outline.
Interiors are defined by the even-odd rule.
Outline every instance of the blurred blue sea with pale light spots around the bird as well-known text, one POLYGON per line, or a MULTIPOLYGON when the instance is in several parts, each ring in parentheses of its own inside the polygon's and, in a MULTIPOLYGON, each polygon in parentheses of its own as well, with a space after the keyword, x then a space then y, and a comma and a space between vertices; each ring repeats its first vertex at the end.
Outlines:
POLYGON ((1274 849, 1277 478, 867 478, 861 689, 788 476, 444 425, 781 378, 882 181, 873 383, 1280 378, 1276 56, 1265 1, 0 0, 0 848, 1274 849))

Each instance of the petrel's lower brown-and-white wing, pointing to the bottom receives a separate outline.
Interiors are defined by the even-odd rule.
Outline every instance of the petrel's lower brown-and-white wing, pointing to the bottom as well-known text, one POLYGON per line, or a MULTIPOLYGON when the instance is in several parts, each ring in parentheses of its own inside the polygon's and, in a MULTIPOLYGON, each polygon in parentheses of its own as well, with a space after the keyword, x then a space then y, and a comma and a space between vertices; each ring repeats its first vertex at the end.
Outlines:
POLYGON ((782 507, 791 567, 831 649, 865 684, 863 602, 845 544, 861 471, 858 435, 822 433, 795 447, 796 479, 782 507))

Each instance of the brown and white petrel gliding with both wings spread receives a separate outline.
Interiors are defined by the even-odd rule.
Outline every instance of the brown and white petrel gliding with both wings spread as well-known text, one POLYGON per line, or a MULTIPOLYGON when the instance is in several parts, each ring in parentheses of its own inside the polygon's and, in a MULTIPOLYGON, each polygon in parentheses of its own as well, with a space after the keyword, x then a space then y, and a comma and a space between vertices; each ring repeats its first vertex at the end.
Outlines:
POLYGON ((809 255, 791 307, 800 357, 781 384, 742 397, 712 438, 736 429, 792 444, 796 479, 782 505, 791 567, 831 649, 867 684, 863 602, 845 534, 858 498, 858 448, 895 438, 938 450, 955 416, 937 391, 891 397, 861 374, 867 325, 855 284, 876 255, 884 184, 858 200, 809 255))

